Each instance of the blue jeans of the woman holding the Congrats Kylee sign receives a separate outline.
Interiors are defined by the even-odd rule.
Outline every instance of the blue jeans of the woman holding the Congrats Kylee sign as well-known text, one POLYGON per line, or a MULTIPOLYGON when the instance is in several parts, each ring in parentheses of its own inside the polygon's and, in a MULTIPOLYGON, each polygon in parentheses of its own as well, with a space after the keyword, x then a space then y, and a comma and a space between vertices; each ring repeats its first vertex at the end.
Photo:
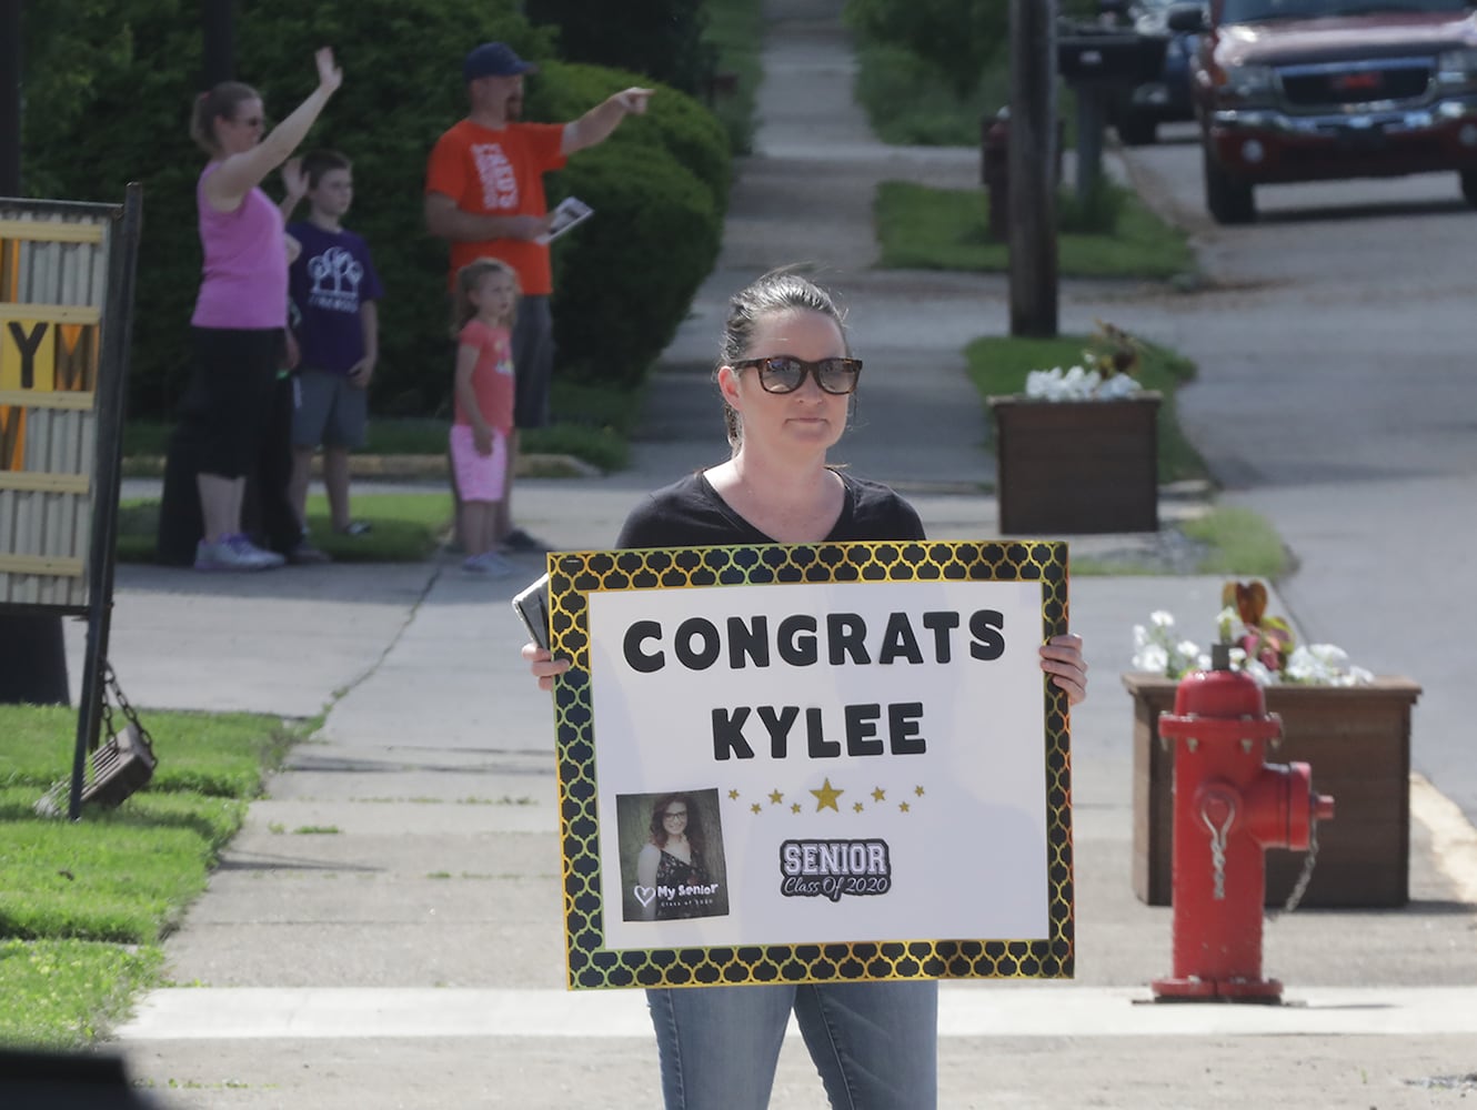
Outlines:
POLYGON ((938 1103, 938 983, 647 990, 666 1110, 765 1110, 790 1011, 836 1110, 938 1103))

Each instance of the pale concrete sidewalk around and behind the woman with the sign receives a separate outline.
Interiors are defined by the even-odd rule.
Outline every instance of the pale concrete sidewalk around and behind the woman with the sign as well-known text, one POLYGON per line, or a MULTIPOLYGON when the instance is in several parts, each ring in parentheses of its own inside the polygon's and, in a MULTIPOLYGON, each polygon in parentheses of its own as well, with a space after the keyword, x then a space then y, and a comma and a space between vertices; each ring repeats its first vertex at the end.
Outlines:
MULTIPOLYGON (((719 267, 651 390, 632 469, 520 483, 518 515, 560 548, 609 546, 641 492, 721 458, 707 373, 724 301, 793 260, 820 263, 845 295, 868 363, 863 427, 840 459, 904 490, 932 536, 994 534, 994 502, 978 493, 993 477, 985 418, 960 348, 1007 331, 1004 279, 867 269, 877 180, 967 187, 978 162, 873 143, 849 99, 839 0, 772 7, 787 16, 767 41, 758 152, 740 168, 719 267)), ((1068 317, 1100 310, 1094 286, 1063 292, 1068 317)), ((1074 554, 1167 558, 1158 537, 1068 540, 1074 554)), ((239 579, 120 571, 111 655, 136 704, 326 709, 168 940, 180 986, 118 1030, 161 1106, 657 1103, 640 992, 563 989, 552 711, 517 658, 508 608, 541 561, 520 567, 508 582, 468 580, 450 558, 239 579), (291 831, 304 827, 338 832, 291 831)), ((1289 1005, 1146 1005, 1148 982, 1170 970, 1170 911, 1130 887, 1131 709, 1118 673, 1134 623, 1155 608, 1210 620, 1220 585, 1072 583, 1093 666, 1092 697, 1072 714, 1077 979, 945 983, 942 1107, 1388 1110, 1471 1094, 1477 869, 1436 852, 1425 822, 1440 834, 1445 810, 1421 782, 1411 906, 1298 911, 1267 925, 1266 970, 1289 1005)), ((821 1104, 792 1038, 772 1106, 821 1104)))

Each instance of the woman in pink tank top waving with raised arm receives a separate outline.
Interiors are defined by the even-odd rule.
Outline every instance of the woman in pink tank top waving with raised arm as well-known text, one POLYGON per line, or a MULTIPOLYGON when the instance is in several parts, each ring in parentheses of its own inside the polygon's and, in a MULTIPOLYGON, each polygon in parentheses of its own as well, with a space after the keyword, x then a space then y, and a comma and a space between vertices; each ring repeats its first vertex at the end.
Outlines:
MULTIPOLYGON (((182 412, 198 444, 199 570, 266 570, 285 561, 242 534, 241 509, 270 431, 287 334, 287 238, 282 214, 260 186, 343 83, 332 50, 323 47, 315 61, 318 87, 267 134, 261 97, 236 81, 202 93, 191 118, 191 137, 210 155, 195 186, 204 267, 191 317, 195 370, 182 412)), ((261 490, 263 499, 278 493, 261 490)))

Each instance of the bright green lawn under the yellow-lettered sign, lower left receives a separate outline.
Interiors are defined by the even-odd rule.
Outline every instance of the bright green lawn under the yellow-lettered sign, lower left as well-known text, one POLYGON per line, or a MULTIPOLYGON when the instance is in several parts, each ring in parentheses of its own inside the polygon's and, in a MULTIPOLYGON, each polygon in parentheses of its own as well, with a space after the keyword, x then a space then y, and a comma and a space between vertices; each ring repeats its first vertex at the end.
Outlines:
POLYGON ((35 800, 71 772, 77 711, 0 706, 0 1045, 92 1044, 160 982, 160 942, 205 889, 267 769, 312 725, 143 710, 149 787, 75 825, 35 800))

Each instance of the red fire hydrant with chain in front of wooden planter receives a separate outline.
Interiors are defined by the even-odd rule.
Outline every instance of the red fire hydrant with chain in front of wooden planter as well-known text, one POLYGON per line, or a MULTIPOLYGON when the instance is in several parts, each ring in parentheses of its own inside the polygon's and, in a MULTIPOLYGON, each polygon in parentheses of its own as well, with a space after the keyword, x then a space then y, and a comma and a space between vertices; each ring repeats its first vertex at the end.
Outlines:
POLYGON ((1307 852, 1315 821, 1334 799, 1313 793, 1307 763, 1266 763, 1282 735, 1261 686, 1230 670, 1216 645, 1213 669, 1174 692, 1159 737, 1174 750, 1174 974, 1154 980, 1156 1001, 1279 1002, 1282 983, 1261 977, 1261 906, 1269 847, 1307 852))

